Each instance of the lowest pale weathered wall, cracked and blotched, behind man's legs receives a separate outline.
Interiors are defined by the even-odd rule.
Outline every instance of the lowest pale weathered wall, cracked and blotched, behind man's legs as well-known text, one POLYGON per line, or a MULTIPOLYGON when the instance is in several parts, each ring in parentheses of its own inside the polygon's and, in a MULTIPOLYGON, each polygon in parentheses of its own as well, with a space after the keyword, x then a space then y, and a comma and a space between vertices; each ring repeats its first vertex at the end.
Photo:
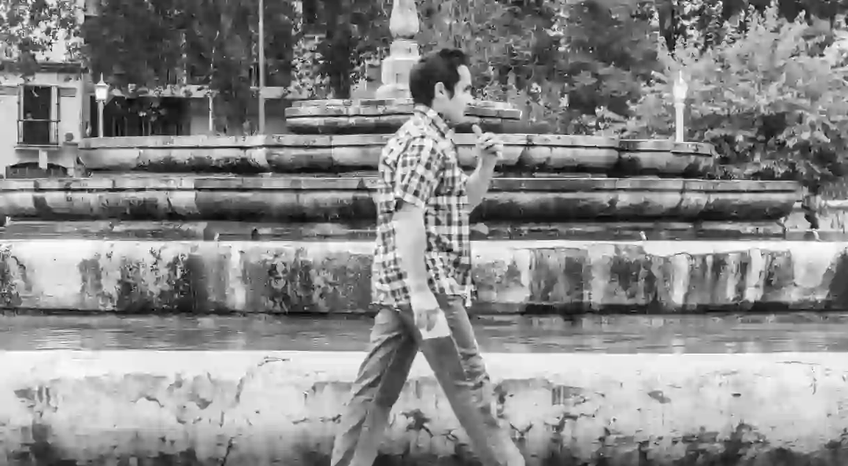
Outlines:
MULTIPOLYGON (((326 466, 357 352, 0 353, 0 454, 47 464, 326 466), (64 463, 60 463, 63 462, 64 463)), ((842 466, 848 357, 488 354, 529 466, 842 466)), ((419 358, 382 464, 471 464, 419 358)))

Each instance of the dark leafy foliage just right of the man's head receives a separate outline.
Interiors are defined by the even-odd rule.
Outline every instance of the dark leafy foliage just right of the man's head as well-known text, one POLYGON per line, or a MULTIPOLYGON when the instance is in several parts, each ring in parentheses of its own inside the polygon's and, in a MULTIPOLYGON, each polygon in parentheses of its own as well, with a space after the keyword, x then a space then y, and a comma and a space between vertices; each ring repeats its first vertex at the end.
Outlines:
POLYGON ((651 5, 425 0, 420 42, 466 50, 479 97, 522 108, 538 130, 594 132, 598 108, 628 114, 656 66, 651 5))

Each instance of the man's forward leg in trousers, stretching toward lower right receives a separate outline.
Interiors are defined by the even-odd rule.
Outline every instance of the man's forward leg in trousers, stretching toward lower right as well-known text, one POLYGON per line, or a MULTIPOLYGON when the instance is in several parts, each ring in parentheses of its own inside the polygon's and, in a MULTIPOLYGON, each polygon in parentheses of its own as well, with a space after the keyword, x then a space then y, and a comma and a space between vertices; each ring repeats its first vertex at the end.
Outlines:
MULTIPOLYGON (((524 458, 512 441, 510 432, 502 429, 493 413, 494 386, 489 380, 483 358, 477 347, 474 330, 461 297, 438 296, 450 330, 449 336, 420 340, 421 352, 427 357, 439 385, 454 409, 471 447, 484 466, 524 466, 524 458)), ((421 325, 412 311, 403 308, 404 322, 416 325, 416 338, 421 338, 421 325)), ((432 325, 432 320, 430 320, 432 325)))

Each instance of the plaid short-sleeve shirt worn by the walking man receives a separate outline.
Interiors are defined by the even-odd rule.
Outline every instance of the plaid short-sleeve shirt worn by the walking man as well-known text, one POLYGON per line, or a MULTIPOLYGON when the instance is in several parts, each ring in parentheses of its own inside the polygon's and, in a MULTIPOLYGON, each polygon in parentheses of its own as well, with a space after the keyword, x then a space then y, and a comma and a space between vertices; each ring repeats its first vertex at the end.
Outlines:
POLYGON ((403 202, 424 209, 427 281, 436 293, 468 298, 471 240, 466 185, 453 131, 432 108, 416 105, 383 148, 379 162, 377 244, 371 270, 372 301, 407 304, 410 290, 400 268, 393 214, 403 202))

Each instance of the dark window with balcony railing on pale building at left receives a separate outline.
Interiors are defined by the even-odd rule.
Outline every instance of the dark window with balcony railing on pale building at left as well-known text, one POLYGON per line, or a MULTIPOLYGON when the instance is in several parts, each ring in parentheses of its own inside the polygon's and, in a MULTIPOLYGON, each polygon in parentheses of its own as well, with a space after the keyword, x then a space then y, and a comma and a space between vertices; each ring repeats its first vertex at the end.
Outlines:
POLYGON ((18 143, 25 146, 59 145, 59 87, 20 86, 18 143))

